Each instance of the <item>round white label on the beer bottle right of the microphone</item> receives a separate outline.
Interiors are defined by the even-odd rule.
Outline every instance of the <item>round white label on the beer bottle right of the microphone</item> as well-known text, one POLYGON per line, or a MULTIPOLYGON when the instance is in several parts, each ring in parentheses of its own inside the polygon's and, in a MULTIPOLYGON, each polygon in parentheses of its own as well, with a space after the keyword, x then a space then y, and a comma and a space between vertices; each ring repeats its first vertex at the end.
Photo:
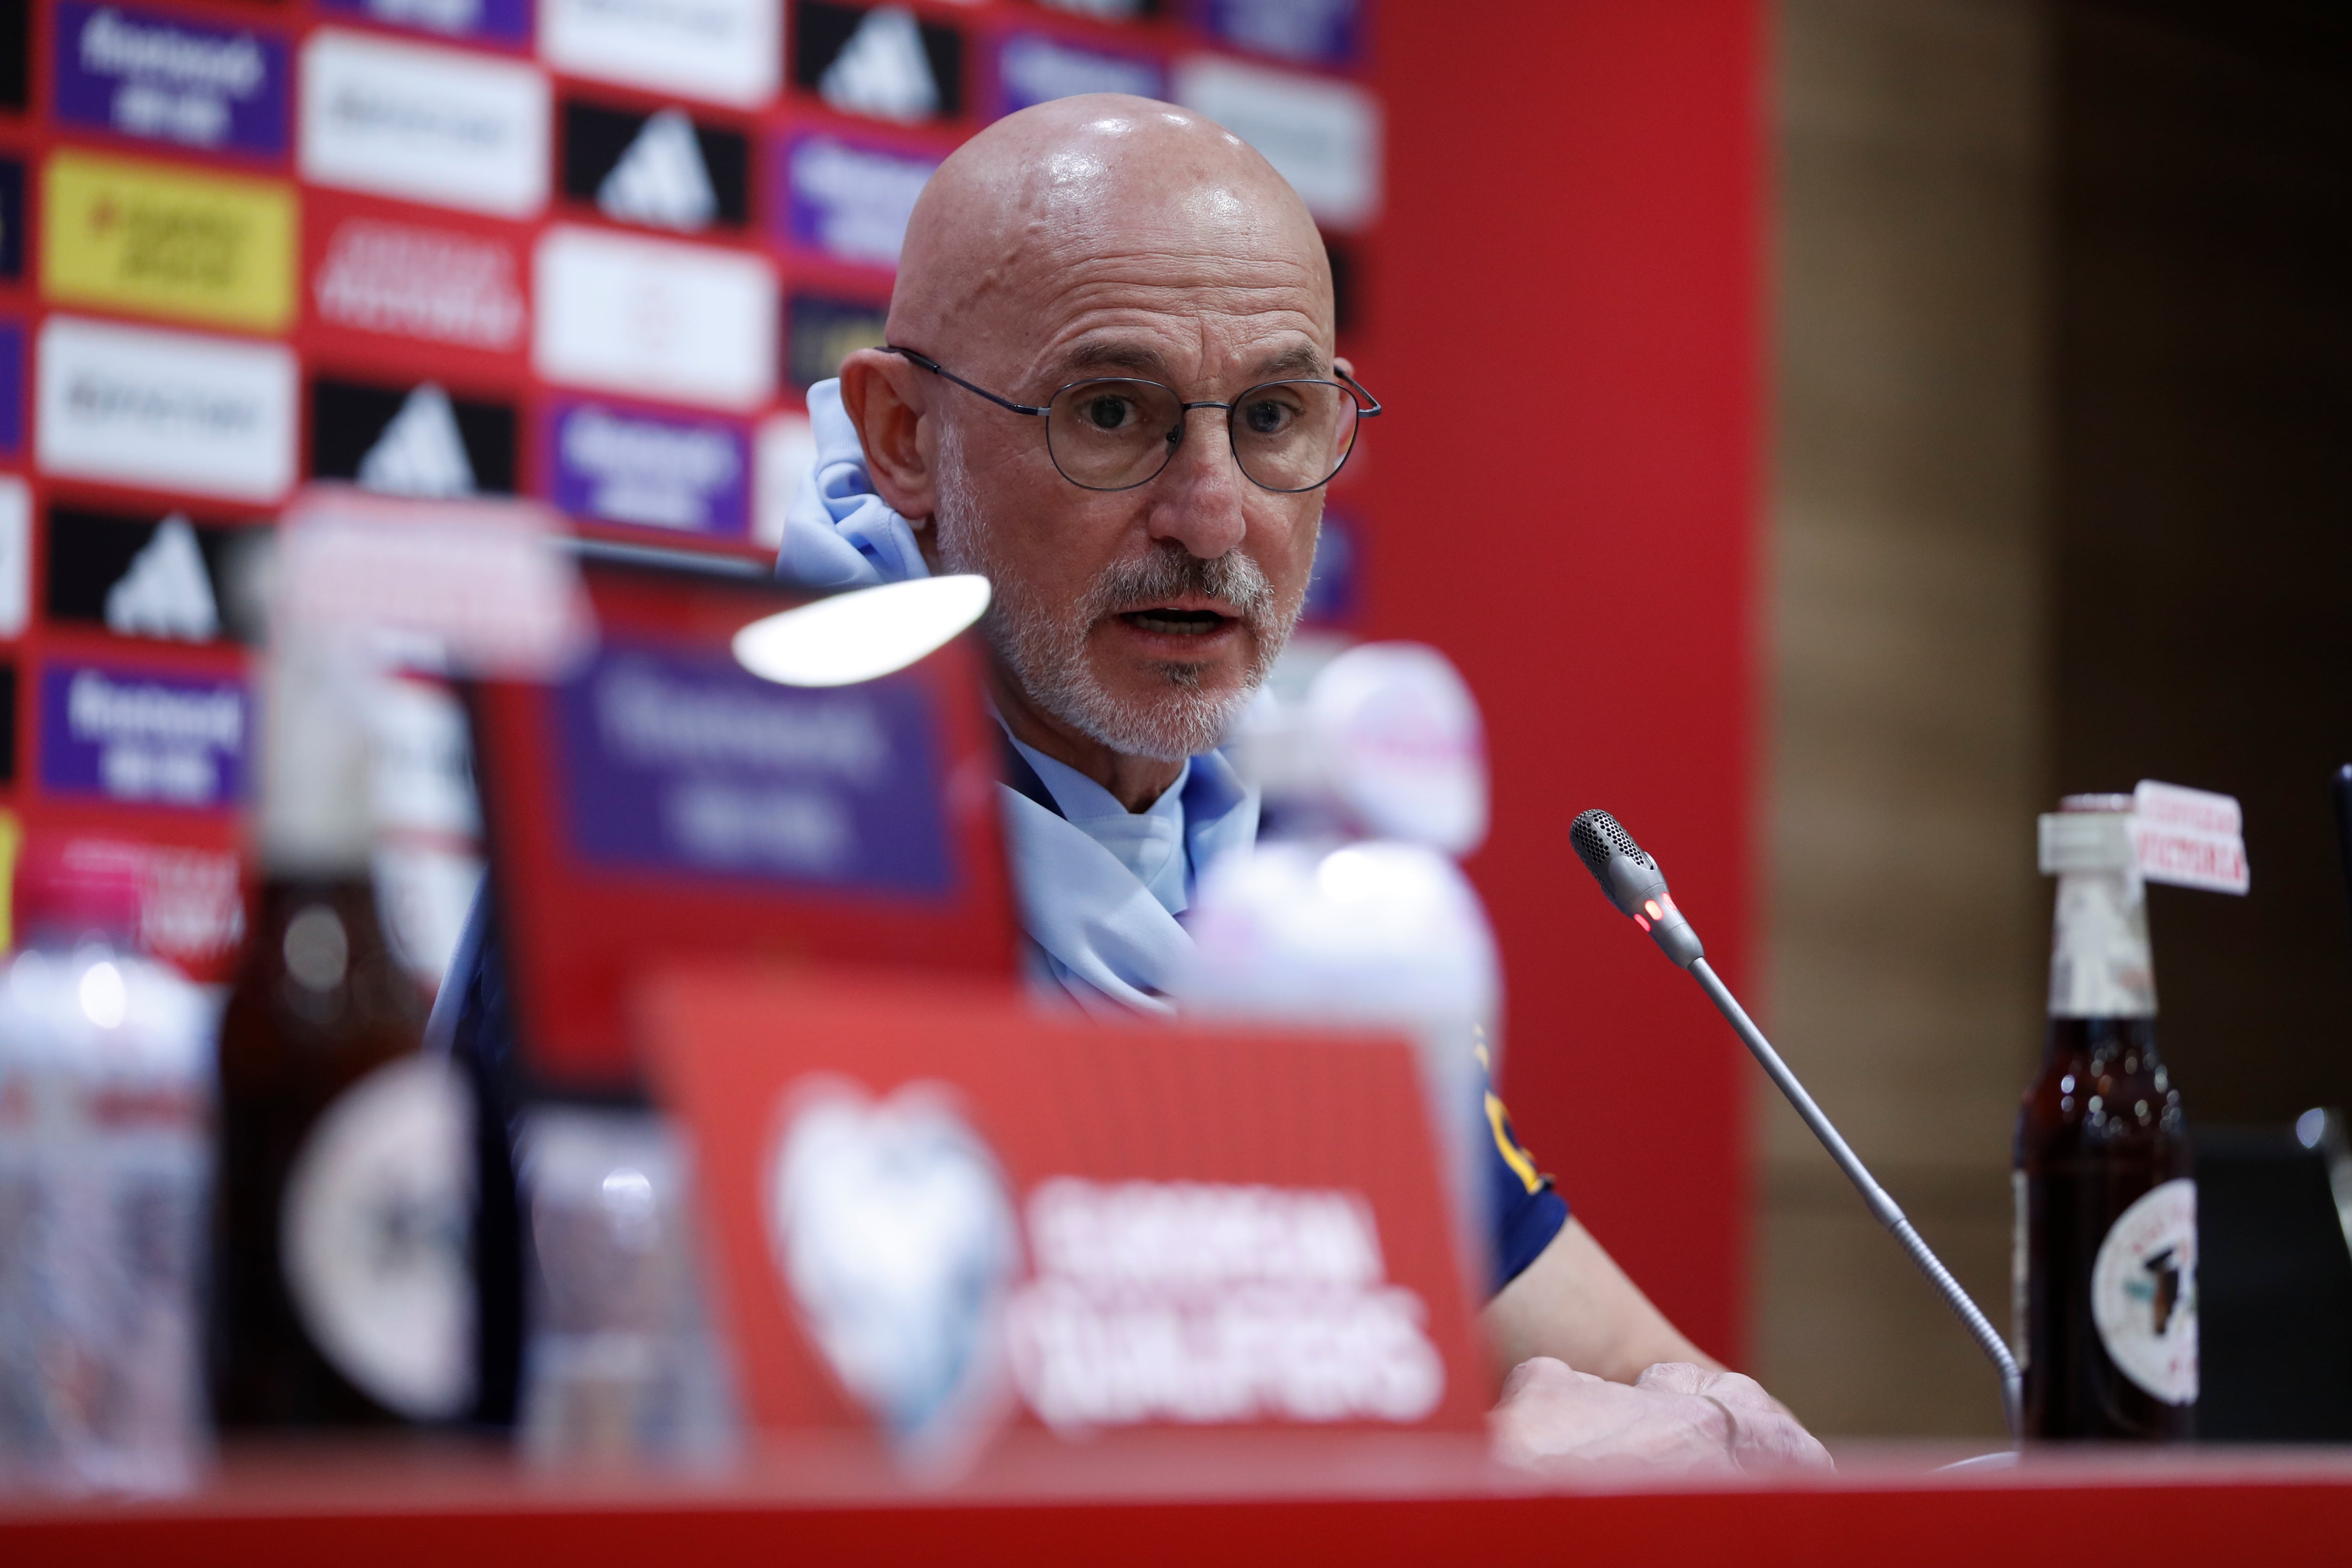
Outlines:
POLYGON ((2197 1403, 2197 1182, 2154 1187, 2107 1229, 2091 1319, 2126 1378, 2164 1403, 2197 1403))

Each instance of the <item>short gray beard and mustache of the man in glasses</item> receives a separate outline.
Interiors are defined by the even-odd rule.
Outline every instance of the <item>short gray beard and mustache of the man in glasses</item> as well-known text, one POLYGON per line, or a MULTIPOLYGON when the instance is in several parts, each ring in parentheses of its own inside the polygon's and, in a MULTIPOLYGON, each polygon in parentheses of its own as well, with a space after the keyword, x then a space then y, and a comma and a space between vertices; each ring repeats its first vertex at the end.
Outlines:
POLYGON ((953 433, 941 440, 934 527, 948 571, 976 571, 995 590, 981 630, 1021 691, 1077 733, 1127 757, 1183 762, 1214 750, 1275 668, 1305 607, 1305 588, 1277 595, 1258 562, 1240 550, 1202 559, 1174 541, 1141 559, 1112 562, 1075 604, 1049 602, 990 548, 953 433), (1249 628, 1256 658, 1242 684, 1225 693, 1204 691, 1195 665, 1160 663, 1155 670, 1164 684, 1145 698, 1117 698, 1103 689, 1087 661, 1094 623, 1188 592, 1218 599, 1249 628))

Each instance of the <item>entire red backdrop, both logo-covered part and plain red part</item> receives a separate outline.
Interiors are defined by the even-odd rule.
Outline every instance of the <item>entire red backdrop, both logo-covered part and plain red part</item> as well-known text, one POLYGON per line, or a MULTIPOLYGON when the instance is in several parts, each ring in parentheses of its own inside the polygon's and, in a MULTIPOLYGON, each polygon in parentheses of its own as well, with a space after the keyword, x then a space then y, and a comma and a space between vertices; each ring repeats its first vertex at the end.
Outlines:
POLYGON ((1609 804, 1743 978, 1757 59, 1752 0, 0 0, 5 804, 132 846, 151 940, 226 973, 233 567, 301 482, 762 555, 929 169, 1042 99, 1192 103, 1312 207, 1395 411, 1308 614, 1486 705, 1519 1126, 1736 1354, 1736 1048, 1559 886, 1609 804))

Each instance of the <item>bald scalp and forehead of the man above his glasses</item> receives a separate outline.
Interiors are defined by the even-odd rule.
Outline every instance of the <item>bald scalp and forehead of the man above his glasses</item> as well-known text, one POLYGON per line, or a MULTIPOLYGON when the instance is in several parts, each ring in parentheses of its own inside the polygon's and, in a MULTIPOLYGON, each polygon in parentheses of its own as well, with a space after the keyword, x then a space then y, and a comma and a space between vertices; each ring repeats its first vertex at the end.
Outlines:
POLYGON ((898 254, 891 343, 967 357, 1056 303, 1122 284, 1294 289, 1331 353, 1331 266, 1289 181, 1232 132, 1127 94, 997 120, 924 186, 898 254))

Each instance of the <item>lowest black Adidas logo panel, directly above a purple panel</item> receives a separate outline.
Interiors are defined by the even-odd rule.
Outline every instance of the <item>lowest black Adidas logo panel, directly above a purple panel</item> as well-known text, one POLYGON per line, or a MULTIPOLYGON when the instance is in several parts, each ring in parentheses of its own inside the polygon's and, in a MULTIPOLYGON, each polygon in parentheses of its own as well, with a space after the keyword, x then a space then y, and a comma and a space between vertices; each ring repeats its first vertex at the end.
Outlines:
POLYGON ((52 621, 103 625, 118 637, 214 642, 254 637, 259 618, 230 592, 245 550, 268 529, 195 524, 188 512, 127 515, 49 508, 45 602, 52 621))

